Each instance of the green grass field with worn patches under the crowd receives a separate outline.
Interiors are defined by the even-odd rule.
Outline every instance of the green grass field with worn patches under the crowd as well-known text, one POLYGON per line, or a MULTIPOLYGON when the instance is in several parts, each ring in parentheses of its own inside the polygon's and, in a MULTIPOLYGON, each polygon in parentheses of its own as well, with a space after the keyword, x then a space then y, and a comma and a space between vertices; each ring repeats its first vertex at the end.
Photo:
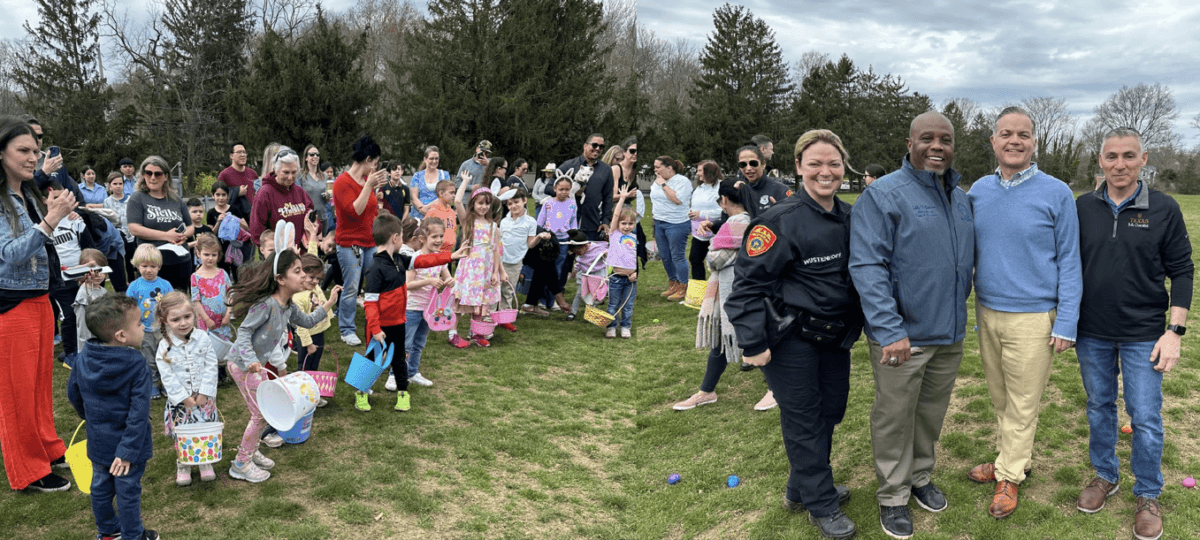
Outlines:
MULTIPOLYGON (((1192 232, 1200 197, 1177 197, 1192 232)), ((647 233, 652 227, 646 223, 647 233)), ((413 410, 395 413, 394 392, 377 384, 374 409, 359 413, 352 389, 319 409, 312 438, 265 449, 278 462, 264 484, 232 480, 228 463, 247 413, 234 386, 217 397, 226 419, 218 481, 174 485, 172 442, 156 428, 155 457, 143 482, 143 516, 167 539, 816 539, 803 515, 780 508, 787 458, 779 412, 751 406, 766 385, 758 372, 726 371, 720 401, 677 413, 695 392, 706 350, 694 346, 696 312, 662 300, 661 264, 640 281, 634 340, 604 340, 586 322, 522 317, 488 349, 457 350, 433 335, 413 388, 413 410), (671 473, 683 480, 666 482, 671 473), (742 478, 726 488, 730 474, 742 478)), ((970 482, 970 467, 995 457, 995 418, 967 323, 966 356, 940 443, 934 480, 950 502, 932 515, 912 505, 916 538, 1127 539, 1134 499, 1129 436, 1117 446, 1121 493, 1100 514, 1075 510, 1091 478, 1085 392, 1074 352, 1060 355, 1045 394, 1033 475, 1004 521, 986 515, 991 487, 970 482)), ((1193 324, 1193 326, 1200 326, 1193 324)), ((360 328, 361 324, 360 324, 360 328)), ((352 350, 326 334, 344 372, 352 350)), ((1200 538, 1200 492, 1180 480, 1200 476, 1200 342, 1183 341, 1183 360, 1164 382, 1165 534, 1200 538)), ((880 530, 868 414, 872 379, 865 344, 853 350, 850 406, 834 437, 834 474, 853 497, 846 511, 859 538, 880 530)), ((324 368, 334 360, 326 354, 324 368)), ((58 431, 78 425, 66 402, 67 371, 55 370, 58 431)), ((162 402, 151 416, 161 426, 162 402)), ((1124 419, 1124 412, 1122 410, 1124 419)), ((0 473, 2 474, 2 473, 0 473)), ((6 535, 82 539, 95 534, 86 496, 0 493, 6 535)))

